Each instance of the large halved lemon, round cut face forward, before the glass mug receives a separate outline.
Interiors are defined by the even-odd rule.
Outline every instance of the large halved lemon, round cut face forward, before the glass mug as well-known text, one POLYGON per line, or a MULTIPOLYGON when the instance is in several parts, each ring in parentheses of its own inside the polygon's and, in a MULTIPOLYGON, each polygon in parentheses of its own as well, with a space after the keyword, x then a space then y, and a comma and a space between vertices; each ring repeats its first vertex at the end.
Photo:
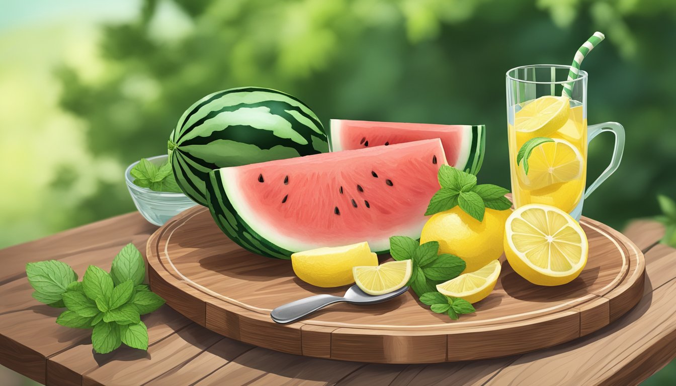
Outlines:
POLYGON ((580 224, 566 212, 539 203, 522 206, 507 218, 504 248, 514 271, 537 285, 573 281, 589 254, 580 224))

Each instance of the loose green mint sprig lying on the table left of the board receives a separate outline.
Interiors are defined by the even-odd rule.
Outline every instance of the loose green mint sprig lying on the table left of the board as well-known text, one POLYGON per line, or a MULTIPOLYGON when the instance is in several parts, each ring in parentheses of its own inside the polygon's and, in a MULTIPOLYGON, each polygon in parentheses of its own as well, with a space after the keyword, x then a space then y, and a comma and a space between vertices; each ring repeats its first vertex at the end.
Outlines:
POLYGON ((74 329, 93 329, 91 342, 99 354, 122 343, 148 349, 148 331, 140 316, 160 308, 164 299, 142 284, 145 263, 141 252, 128 244, 113 259, 110 274, 89 266, 78 280, 70 266, 57 260, 26 264, 34 299, 65 307, 56 322, 74 329))

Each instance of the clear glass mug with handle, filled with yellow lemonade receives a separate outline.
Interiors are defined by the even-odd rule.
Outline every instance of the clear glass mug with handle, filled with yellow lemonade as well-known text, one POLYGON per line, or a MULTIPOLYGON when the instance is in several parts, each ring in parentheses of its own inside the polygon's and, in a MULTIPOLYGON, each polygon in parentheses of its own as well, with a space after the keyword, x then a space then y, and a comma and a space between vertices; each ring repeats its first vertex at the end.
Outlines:
POLYGON ((570 70, 551 64, 509 70, 507 125, 515 208, 543 203, 579 220, 585 197, 617 170, 625 131, 617 122, 587 127, 587 72, 568 80, 570 70), (564 85, 572 87, 570 97, 564 85), (585 189, 587 145, 605 131, 615 136, 612 160, 585 189))

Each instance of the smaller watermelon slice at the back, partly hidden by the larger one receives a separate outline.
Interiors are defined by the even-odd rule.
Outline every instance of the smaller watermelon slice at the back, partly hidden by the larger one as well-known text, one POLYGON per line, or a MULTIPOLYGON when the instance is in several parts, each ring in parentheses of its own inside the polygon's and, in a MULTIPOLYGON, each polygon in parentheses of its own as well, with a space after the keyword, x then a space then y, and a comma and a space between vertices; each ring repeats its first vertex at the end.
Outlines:
POLYGON ((331 120, 331 151, 439 138, 448 164, 477 174, 483 163, 486 126, 331 120))

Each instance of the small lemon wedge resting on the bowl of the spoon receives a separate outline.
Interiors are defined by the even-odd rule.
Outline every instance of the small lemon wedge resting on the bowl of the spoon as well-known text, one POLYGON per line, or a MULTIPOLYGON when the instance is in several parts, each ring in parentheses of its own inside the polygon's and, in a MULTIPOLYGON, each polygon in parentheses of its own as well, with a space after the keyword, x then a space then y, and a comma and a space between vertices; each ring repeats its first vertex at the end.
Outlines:
POLYGON ((413 273, 411 260, 384 263, 379 266, 352 268, 354 281, 369 295, 383 295, 400 289, 413 273))

